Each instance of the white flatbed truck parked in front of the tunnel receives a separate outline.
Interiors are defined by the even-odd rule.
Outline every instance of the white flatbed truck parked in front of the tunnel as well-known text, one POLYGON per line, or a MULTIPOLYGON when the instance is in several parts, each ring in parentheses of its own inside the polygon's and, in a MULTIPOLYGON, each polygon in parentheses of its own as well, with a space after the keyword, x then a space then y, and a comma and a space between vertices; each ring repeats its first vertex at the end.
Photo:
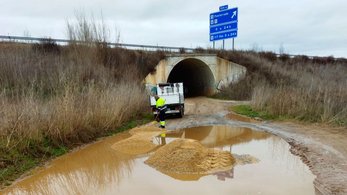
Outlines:
POLYGON ((175 115, 176 118, 182 118, 184 115, 184 88, 183 83, 160 83, 156 84, 150 95, 150 103, 154 117, 158 114, 156 111, 156 101, 154 95, 158 95, 168 108, 165 115, 175 115))

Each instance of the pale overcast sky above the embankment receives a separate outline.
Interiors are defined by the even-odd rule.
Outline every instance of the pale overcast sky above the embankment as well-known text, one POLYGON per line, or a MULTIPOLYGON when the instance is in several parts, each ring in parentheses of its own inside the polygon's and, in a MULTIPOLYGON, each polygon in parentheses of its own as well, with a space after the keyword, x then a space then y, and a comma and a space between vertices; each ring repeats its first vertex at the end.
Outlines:
MULTIPOLYGON (((256 42, 264 50, 309 56, 347 57, 347 0, 0 0, 0 35, 66 39, 65 18, 82 6, 102 9, 111 29, 117 23, 122 43, 160 46, 212 46, 209 14, 219 6, 238 7, 236 49, 256 42)), ((215 42, 221 46, 222 41, 215 42)), ((232 39, 225 40, 232 48, 232 39)))

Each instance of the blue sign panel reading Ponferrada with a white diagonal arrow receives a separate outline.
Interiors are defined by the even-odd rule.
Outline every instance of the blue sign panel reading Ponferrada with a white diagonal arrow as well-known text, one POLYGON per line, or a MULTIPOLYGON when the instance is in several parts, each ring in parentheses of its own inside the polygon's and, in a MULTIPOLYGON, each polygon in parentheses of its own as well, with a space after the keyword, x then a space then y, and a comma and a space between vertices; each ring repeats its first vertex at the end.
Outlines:
POLYGON ((210 14, 210 26, 235 22, 238 18, 238 8, 234 7, 210 14))

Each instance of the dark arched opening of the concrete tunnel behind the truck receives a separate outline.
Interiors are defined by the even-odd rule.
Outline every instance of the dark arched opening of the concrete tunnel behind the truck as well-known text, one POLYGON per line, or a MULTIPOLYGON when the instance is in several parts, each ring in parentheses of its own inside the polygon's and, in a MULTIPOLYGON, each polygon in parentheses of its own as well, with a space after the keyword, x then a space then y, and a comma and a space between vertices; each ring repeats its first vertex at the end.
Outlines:
POLYGON ((214 93, 214 76, 210 67, 203 61, 187 58, 172 68, 167 82, 183 82, 187 87, 185 96, 209 96, 214 93))

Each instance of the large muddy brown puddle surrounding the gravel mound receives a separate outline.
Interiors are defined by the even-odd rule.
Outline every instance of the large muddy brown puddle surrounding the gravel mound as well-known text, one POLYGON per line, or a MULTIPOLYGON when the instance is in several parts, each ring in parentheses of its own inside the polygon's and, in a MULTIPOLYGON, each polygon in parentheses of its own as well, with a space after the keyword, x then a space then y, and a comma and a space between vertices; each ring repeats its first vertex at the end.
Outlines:
POLYGON ((249 128, 203 126, 153 140, 142 154, 112 149, 122 133, 62 156, 0 194, 314 194, 315 176, 281 138, 249 128), (206 174, 160 172, 143 163, 161 145, 193 138, 207 147, 250 154, 261 161, 206 174))

